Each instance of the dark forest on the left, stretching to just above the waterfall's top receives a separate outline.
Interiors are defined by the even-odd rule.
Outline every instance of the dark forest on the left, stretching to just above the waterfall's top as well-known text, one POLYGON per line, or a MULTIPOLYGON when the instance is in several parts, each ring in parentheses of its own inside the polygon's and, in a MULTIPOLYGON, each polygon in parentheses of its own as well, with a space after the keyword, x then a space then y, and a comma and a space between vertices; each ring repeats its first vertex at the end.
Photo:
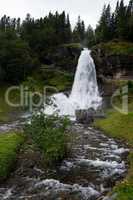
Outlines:
POLYGON ((69 15, 49 13, 34 19, 27 14, 25 20, 3 16, 0 19, 0 80, 20 82, 40 66, 53 49, 85 38, 84 22, 72 30, 69 15))

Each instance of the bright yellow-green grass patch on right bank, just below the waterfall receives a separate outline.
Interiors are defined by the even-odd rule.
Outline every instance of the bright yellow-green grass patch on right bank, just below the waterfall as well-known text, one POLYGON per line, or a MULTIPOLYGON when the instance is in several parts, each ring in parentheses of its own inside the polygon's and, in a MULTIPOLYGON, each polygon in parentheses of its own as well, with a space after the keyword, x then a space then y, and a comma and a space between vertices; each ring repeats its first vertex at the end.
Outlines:
MULTIPOLYGON (((130 109, 133 111, 133 104, 130 104, 130 109)), ((110 110, 106 119, 98 120, 95 124, 110 136, 125 139, 130 145, 133 145, 133 112, 124 115, 110 110)))

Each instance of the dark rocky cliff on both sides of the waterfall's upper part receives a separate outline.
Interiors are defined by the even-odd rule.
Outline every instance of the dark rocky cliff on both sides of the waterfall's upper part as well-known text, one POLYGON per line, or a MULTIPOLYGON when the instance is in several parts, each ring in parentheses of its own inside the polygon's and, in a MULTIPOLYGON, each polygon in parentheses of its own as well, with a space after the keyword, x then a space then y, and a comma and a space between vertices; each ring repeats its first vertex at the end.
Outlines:
MULTIPOLYGON (((52 64, 74 73, 82 47, 79 44, 59 46, 45 57, 44 64, 52 64)), ((133 44, 109 42, 92 48, 92 57, 96 65, 97 76, 105 78, 133 77, 133 44)))

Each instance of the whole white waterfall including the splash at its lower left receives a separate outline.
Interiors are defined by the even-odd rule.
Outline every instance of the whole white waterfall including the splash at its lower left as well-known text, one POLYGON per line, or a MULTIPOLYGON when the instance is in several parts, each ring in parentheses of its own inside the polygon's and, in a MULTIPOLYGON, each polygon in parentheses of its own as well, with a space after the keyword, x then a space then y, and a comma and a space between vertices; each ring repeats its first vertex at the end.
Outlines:
POLYGON ((52 105, 46 106, 45 113, 75 117, 76 110, 97 109, 102 98, 99 95, 95 64, 90 51, 85 48, 80 55, 74 84, 69 97, 63 93, 51 97, 52 105))

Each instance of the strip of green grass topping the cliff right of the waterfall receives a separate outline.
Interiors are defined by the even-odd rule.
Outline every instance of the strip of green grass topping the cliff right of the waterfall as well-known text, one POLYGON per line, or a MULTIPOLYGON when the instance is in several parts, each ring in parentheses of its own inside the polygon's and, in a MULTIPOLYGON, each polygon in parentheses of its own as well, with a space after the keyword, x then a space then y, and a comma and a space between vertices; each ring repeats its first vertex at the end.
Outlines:
POLYGON ((107 55, 133 55, 133 43, 112 41, 101 43, 98 46, 105 51, 107 55))

